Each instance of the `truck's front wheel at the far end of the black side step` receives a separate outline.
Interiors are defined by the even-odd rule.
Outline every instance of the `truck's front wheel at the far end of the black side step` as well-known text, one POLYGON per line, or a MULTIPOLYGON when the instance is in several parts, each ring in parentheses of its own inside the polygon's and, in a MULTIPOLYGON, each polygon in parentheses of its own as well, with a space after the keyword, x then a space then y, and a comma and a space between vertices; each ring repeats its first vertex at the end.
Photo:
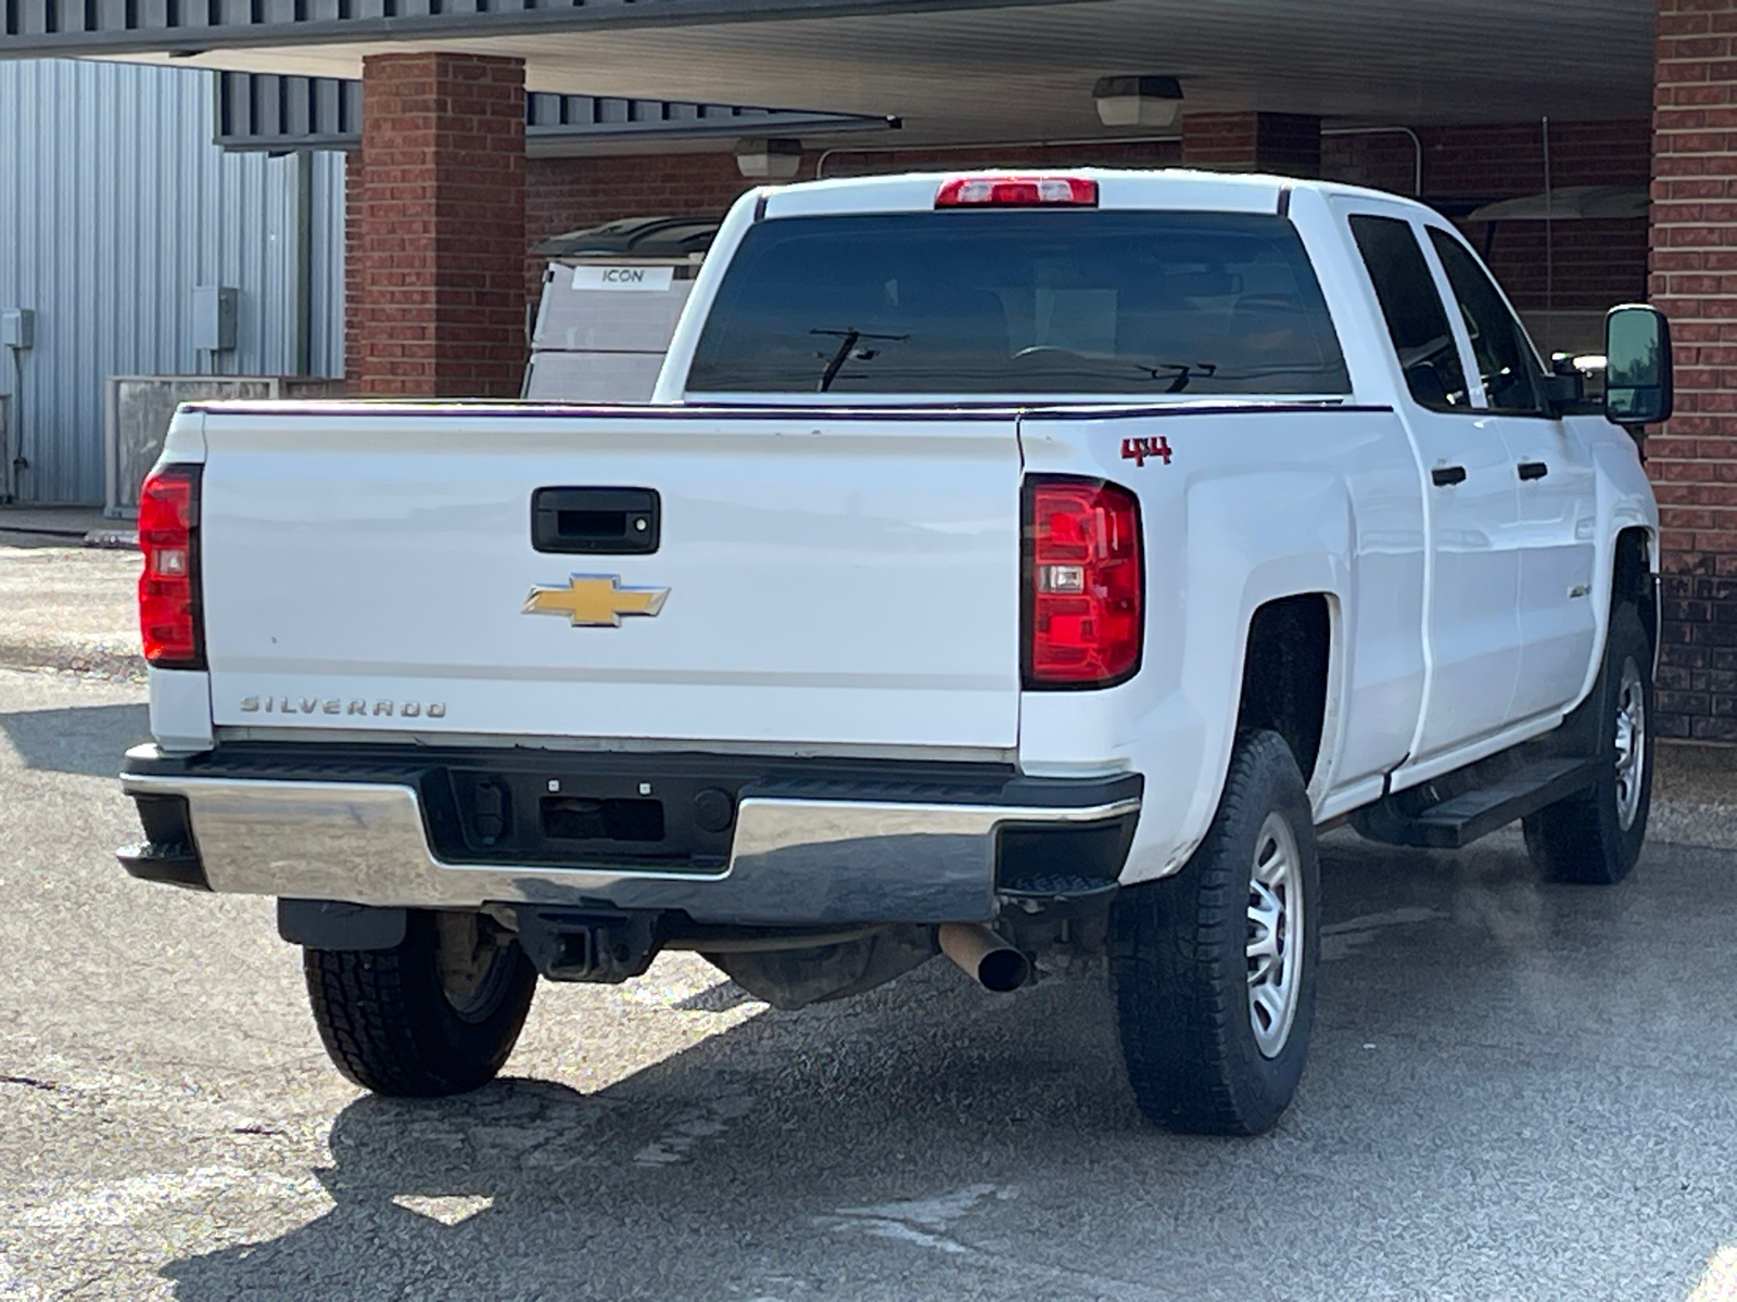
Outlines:
POLYGON ((1652 644, 1629 602, 1612 611, 1603 668, 1579 708, 1593 713, 1598 783, 1523 819, 1525 847, 1553 882, 1614 885, 1640 858, 1652 809, 1652 644))

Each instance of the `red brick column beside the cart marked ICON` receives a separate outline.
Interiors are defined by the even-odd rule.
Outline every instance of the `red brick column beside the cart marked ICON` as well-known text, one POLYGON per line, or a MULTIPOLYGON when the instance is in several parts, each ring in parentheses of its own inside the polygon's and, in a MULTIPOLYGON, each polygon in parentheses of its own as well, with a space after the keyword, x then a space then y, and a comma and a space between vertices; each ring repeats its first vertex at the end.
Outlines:
POLYGON ((377 54, 346 217, 351 389, 516 398, 525 375, 525 62, 377 54))

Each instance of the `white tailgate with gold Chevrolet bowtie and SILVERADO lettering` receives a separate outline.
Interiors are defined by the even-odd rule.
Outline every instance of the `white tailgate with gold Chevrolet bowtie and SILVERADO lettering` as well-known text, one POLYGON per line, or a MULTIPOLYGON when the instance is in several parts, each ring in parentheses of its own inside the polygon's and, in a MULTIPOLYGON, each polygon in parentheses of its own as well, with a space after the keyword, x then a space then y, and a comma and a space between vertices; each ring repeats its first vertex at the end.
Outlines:
POLYGON ((1016 745, 1011 413, 212 408, 205 448, 219 727, 1016 745), (544 488, 655 490, 657 550, 538 550, 544 488))

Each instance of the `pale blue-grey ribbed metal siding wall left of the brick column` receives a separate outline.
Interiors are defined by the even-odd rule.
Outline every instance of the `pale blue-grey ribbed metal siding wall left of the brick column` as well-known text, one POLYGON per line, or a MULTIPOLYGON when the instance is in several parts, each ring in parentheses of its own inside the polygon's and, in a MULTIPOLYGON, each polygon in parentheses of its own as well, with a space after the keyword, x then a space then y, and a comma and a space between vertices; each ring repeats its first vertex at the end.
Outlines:
MULTIPOLYGON (((311 365, 340 375, 342 158, 320 158, 314 179, 311 365)), ((106 375, 214 370, 191 344, 200 285, 240 290, 217 370, 294 370, 295 184, 292 158, 212 144, 210 73, 0 62, 0 307, 36 311, 21 496, 102 500, 106 375)), ((12 385, 0 354, 0 392, 12 385)))

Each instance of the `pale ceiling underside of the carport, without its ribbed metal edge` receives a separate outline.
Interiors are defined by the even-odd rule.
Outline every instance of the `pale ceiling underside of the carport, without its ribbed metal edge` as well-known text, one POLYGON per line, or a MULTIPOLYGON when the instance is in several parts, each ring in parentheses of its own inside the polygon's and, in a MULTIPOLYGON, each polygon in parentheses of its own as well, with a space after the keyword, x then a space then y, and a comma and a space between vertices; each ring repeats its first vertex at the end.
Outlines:
MULTIPOLYGON (((677 0, 648 0, 657 3, 677 0)), ((393 49, 214 49, 191 61, 356 76, 363 56, 393 49)), ((478 28, 419 49, 523 57, 537 92, 896 115, 907 146, 1126 135, 1098 122, 1091 99, 1093 83, 1117 73, 1178 76, 1185 113, 1270 109, 1336 125, 1640 120, 1652 111, 1652 0, 936 3, 815 9, 802 19, 773 5, 757 23, 575 24, 535 36, 478 28)))

